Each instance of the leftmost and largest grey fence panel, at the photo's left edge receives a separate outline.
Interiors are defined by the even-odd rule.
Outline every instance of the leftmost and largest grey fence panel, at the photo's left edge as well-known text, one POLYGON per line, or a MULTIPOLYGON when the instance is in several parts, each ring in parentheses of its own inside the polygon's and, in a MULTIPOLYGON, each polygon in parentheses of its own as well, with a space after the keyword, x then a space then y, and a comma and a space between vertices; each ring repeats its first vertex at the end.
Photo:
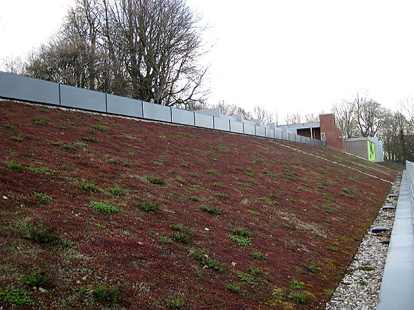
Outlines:
POLYGON ((59 83, 0 72, 0 97, 59 105, 59 83))

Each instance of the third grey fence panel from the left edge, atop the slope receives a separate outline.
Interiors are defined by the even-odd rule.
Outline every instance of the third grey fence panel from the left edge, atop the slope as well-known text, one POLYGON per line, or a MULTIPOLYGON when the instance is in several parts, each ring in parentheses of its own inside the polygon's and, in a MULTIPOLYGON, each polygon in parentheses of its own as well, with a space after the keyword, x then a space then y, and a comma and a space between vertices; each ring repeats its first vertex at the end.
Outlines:
POLYGON ((125 116, 142 117, 142 101, 112 94, 106 95, 106 108, 108 113, 125 116))

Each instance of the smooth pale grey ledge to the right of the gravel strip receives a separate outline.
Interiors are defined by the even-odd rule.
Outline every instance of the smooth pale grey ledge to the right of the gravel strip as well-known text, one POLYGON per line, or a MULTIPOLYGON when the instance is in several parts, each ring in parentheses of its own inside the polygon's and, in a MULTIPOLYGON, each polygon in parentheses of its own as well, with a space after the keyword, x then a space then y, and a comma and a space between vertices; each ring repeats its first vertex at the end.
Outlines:
POLYGON ((377 310, 414 309, 414 231, 409 179, 405 170, 377 310))

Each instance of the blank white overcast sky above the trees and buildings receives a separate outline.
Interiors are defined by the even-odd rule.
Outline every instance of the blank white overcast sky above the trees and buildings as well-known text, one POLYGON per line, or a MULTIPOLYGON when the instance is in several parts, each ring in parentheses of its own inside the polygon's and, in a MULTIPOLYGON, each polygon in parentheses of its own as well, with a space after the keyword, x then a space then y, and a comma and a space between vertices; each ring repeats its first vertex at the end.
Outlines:
MULTIPOLYGON (((0 59, 30 52, 59 29, 71 1, 0 3, 0 59)), ((414 1, 188 0, 215 43, 210 103, 330 112, 357 90, 384 107, 414 96, 414 1)), ((0 69, 2 66, 0 65, 0 69)), ((283 123, 283 122, 282 122, 283 123)))

